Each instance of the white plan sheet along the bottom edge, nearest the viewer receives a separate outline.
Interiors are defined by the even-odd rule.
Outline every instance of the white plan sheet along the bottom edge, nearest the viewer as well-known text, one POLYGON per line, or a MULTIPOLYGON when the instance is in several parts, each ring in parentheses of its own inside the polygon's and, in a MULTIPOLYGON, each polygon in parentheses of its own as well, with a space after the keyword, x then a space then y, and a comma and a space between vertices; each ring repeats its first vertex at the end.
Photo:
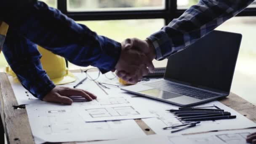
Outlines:
MULTIPOLYGON (((248 144, 246 136, 256 129, 221 131, 186 136, 150 135, 141 138, 97 141, 91 144, 248 144)), ((86 144, 86 143, 78 143, 86 144)))

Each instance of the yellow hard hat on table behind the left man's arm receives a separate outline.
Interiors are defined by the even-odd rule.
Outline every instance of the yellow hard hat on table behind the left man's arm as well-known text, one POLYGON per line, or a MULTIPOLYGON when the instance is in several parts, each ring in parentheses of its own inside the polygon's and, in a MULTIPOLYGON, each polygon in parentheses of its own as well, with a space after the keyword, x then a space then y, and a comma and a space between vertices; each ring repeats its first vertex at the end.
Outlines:
MULTIPOLYGON (((40 61, 43 69, 55 85, 72 83, 76 80, 75 76, 67 69, 66 61, 63 57, 58 56, 40 46, 38 46, 38 50, 42 54, 40 61)), ((6 67, 5 72, 16 77, 15 73, 9 66, 6 67)))

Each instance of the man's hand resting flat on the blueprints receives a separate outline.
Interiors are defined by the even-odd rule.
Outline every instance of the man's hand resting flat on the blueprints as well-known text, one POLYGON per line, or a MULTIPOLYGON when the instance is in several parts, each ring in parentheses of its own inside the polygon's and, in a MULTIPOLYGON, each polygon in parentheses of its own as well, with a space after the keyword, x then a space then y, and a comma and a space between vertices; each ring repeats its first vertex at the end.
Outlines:
POLYGON ((69 96, 82 96, 88 101, 97 98, 97 96, 85 90, 56 86, 43 98, 43 101, 71 105, 73 101, 69 96))

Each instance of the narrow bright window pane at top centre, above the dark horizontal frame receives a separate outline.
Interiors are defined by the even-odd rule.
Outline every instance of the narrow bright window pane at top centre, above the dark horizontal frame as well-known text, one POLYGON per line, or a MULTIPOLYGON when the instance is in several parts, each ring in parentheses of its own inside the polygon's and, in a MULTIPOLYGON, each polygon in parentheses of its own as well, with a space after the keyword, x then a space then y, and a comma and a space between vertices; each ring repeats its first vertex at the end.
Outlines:
POLYGON ((164 9, 165 0, 67 0, 67 11, 164 9))

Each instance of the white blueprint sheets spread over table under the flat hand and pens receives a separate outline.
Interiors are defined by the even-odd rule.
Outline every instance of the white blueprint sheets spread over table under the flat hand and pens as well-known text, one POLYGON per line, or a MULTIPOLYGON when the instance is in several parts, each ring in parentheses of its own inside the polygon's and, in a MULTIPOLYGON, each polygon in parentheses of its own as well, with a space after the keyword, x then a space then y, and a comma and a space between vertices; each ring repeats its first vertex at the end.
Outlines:
MULTIPOLYGON (((72 88, 85 76, 81 73, 76 73, 75 75, 78 80, 75 83, 69 83, 64 86, 72 88)), ((133 120, 139 118, 157 133, 157 135, 163 135, 168 142, 169 136, 173 136, 173 134, 171 135, 170 133, 172 130, 163 130, 162 128, 181 124, 181 121, 173 114, 165 111, 167 109, 178 109, 178 107, 173 104, 138 97, 131 93, 121 91, 120 88, 117 87, 109 86, 110 89, 100 88, 99 85, 91 80, 85 80, 85 82, 77 88, 85 89, 96 94, 98 99, 74 102, 70 106, 40 101, 27 92, 21 84, 14 82, 12 77, 9 77, 9 80, 18 103, 27 104, 26 109, 29 123, 37 144, 45 141, 94 141, 124 139, 127 137, 141 139, 141 141, 147 141, 149 138, 152 139, 149 141, 152 143, 147 141, 149 144, 153 144, 154 141, 158 141, 157 143, 159 143, 160 139, 157 139, 158 136, 152 136, 152 138, 147 137, 146 140, 144 139, 146 136, 144 131, 142 131, 139 125, 133 120)), ((99 81, 118 84, 117 78, 109 80, 104 75, 99 77, 99 81)), ((221 104, 219 101, 209 102, 198 107, 210 107, 214 105, 231 112, 231 114, 236 115, 237 118, 204 121, 194 128, 179 131, 175 133, 175 135, 181 136, 181 134, 185 133, 256 127, 256 124, 251 120, 248 120, 235 110, 221 104)), ((179 139, 180 138, 177 137, 177 141, 179 139)), ((125 144, 125 141, 127 140, 121 143, 125 144)), ((131 143, 133 140, 128 141, 131 143)), ((105 143, 107 144, 107 142, 110 141, 106 141, 105 143)), ((179 142, 173 142, 173 144, 176 143, 179 142)), ((164 142, 161 144, 164 144, 164 142)))

